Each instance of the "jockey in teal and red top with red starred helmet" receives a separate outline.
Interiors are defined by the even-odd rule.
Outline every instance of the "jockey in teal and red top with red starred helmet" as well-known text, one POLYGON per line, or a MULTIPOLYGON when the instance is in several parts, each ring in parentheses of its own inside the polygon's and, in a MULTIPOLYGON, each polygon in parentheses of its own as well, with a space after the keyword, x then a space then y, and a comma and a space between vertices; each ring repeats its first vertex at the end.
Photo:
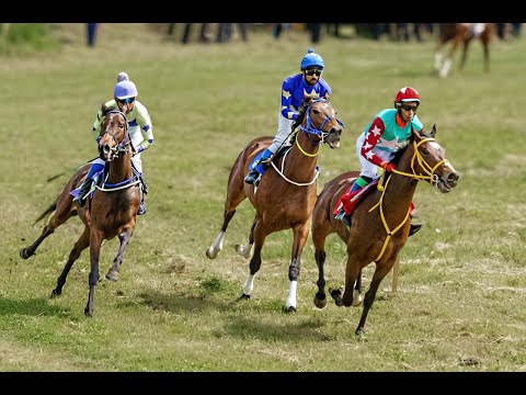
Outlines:
MULTIPOLYGON (((368 185, 377 177, 378 167, 390 172, 396 168, 391 162, 398 149, 409 144, 412 135, 411 126, 419 133, 424 133, 422 122, 416 116, 420 105, 420 94, 416 89, 404 87, 395 98, 395 109, 385 109, 376 114, 364 133, 356 139, 356 153, 362 165, 359 177, 351 188, 350 193, 368 185)), ((350 224, 345 210, 334 217, 350 224)), ((415 234, 422 225, 411 224, 409 235, 415 234)))

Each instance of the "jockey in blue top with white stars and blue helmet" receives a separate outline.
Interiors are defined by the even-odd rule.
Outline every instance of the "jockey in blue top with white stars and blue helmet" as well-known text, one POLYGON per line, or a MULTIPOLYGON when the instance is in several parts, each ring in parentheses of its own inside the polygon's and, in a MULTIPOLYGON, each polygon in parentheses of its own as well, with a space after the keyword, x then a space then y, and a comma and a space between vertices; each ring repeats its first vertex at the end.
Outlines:
POLYGON ((310 99, 323 98, 330 100, 331 87, 321 78, 324 66, 321 56, 315 53, 315 49, 309 48, 299 65, 301 72, 284 79, 277 115, 277 134, 268 148, 263 154, 258 155, 249 165, 251 171, 244 178, 244 182, 259 184, 261 176, 265 171, 264 163, 272 160, 273 156, 287 140, 287 137, 298 126, 300 120, 297 119, 300 106, 307 105, 310 99))

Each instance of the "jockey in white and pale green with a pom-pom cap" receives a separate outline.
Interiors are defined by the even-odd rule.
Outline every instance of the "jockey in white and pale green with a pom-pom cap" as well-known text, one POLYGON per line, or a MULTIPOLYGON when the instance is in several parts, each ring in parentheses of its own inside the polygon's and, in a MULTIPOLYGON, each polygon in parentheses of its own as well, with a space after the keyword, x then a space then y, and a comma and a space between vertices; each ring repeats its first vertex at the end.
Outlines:
MULTIPOLYGON (((148 189, 145 180, 142 179, 142 163, 140 160, 140 154, 153 144, 153 129, 151 120, 146 106, 136 100, 138 95, 137 87, 128 79, 128 75, 126 72, 123 71, 118 74, 117 84, 114 88, 113 95, 114 99, 106 102, 105 105, 126 114, 126 119, 128 121, 128 134, 132 140, 132 149, 134 153, 132 157, 132 165, 142 183, 142 193, 140 194, 141 200, 137 215, 142 215, 146 213, 144 194, 148 193, 148 189)), ((93 123, 93 134, 98 142, 101 133, 101 122, 102 111, 99 110, 95 122, 93 123)), ((73 199, 73 202, 78 203, 79 206, 82 207, 85 203, 85 195, 91 189, 93 176, 103 169, 104 160, 96 158, 92 162, 84 182, 79 188, 77 198, 73 199)), ((96 183, 98 180, 93 181, 96 183)))

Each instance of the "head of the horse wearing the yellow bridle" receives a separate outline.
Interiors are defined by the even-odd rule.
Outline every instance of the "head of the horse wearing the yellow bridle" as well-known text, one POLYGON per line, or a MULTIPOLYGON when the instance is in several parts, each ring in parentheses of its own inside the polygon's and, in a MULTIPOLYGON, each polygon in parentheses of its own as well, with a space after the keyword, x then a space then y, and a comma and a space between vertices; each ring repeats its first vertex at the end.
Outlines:
POLYGON ((435 140, 436 125, 430 134, 420 134, 412 128, 413 155, 411 169, 419 179, 428 182, 441 190, 449 192, 457 187, 459 174, 446 159, 446 149, 435 140))

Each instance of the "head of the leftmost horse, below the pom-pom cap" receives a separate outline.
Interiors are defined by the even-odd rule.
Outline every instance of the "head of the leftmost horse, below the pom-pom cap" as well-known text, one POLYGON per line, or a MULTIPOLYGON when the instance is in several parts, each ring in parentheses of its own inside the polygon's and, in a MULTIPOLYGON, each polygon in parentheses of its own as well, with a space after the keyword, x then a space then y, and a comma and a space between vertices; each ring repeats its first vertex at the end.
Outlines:
POLYGON ((99 156, 104 161, 112 161, 124 153, 129 145, 126 115, 118 110, 103 105, 101 133, 99 134, 99 156))

